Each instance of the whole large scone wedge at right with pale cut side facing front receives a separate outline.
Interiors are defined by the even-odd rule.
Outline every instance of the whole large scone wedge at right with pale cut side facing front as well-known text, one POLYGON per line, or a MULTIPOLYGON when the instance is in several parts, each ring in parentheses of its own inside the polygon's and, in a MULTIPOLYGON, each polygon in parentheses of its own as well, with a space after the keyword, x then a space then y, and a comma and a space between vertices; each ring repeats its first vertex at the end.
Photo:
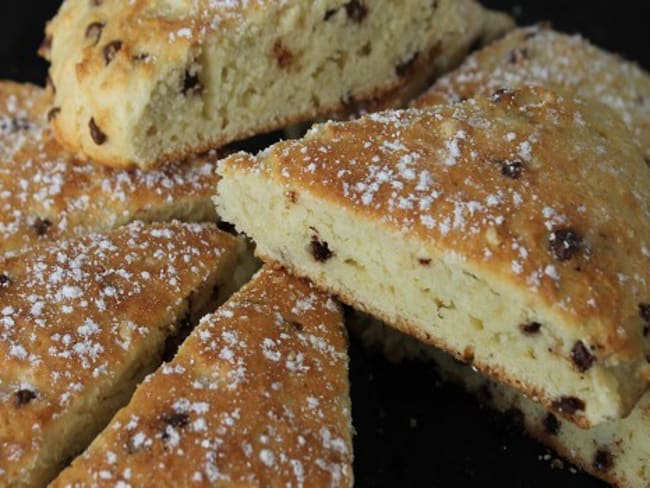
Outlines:
POLYGON ((582 427, 645 391, 650 173, 604 105, 503 90, 318 125, 219 172, 217 209, 260 257, 582 427))

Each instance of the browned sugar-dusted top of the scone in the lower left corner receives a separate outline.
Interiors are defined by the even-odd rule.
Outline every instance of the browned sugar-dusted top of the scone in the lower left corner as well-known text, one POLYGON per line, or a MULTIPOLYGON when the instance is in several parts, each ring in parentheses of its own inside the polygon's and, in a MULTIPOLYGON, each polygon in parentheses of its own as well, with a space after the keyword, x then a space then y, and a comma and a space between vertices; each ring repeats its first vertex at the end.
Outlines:
POLYGON ((235 248, 212 224, 132 223, 0 260, 0 485, 235 248))

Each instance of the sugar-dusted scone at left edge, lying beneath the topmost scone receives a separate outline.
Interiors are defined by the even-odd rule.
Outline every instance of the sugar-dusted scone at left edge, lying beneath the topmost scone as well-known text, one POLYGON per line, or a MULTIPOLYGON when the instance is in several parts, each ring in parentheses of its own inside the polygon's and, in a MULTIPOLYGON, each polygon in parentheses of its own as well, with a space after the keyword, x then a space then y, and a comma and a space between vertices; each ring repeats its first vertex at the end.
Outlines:
POLYGON ((0 254, 136 219, 216 219, 216 155, 161 171, 95 166, 56 142, 50 105, 41 88, 0 81, 0 254))

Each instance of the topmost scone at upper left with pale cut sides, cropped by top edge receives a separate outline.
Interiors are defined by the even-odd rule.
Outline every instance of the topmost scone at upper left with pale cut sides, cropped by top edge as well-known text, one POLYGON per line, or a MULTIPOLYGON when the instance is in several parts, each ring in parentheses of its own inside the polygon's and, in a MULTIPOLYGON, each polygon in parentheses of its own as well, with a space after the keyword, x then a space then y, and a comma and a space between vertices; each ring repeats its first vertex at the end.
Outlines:
POLYGON ((149 168, 345 109, 434 69, 474 0, 66 0, 42 49, 58 139, 149 168))

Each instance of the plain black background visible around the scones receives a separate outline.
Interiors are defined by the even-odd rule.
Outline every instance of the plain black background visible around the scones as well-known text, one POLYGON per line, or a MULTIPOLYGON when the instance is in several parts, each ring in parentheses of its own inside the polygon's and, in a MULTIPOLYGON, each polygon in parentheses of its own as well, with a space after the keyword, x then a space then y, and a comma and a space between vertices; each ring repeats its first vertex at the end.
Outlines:
MULTIPOLYGON (((650 68, 647 0, 484 3, 513 13, 520 24, 550 20, 559 30, 580 32, 650 68)), ((0 1, 0 78, 43 82, 47 65, 35 51, 58 5, 57 0, 0 1)), ((357 486, 602 486, 567 463, 552 468, 544 459, 549 451, 459 389, 441 384, 430 367, 388 364, 354 339, 351 357, 357 486)))

